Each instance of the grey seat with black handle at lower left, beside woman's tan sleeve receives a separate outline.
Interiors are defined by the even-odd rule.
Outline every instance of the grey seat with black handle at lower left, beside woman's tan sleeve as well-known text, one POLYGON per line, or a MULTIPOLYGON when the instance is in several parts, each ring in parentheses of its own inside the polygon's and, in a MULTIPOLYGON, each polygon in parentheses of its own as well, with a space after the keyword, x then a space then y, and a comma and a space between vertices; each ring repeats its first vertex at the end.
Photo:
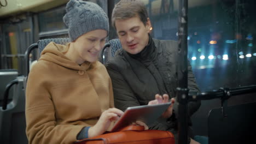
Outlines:
POLYGON ((8 98, 10 87, 13 87, 13 99, 0 106, 0 141, 1 143, 28 143, 26 137, 24 76, 8 83, 4 98, 8 98))

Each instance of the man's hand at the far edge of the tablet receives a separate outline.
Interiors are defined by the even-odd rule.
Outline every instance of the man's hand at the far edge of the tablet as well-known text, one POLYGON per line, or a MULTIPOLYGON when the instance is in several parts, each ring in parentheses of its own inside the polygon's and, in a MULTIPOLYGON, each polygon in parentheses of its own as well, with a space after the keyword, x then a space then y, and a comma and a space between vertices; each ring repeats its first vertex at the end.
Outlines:
MULTIPOLYGON (((169 102, 168 94, 164 94, 162 96, 159 94, 156 94, 155 100, 149 101, 148 105, 164 104, 168 102, 169 102)), ((172 116, 173 104, 175 103, 174 98, 171 99, 171 103, 172 104, 168 107, 168 109, 164 113, 162 113, 162 117, 169 118, 172 116)))

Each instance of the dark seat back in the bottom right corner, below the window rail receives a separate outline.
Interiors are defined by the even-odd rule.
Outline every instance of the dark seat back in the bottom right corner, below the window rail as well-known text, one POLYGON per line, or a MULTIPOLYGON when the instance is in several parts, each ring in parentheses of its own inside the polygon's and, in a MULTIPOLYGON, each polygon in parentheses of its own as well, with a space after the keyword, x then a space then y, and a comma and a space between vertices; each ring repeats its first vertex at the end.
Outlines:
POLYGON ((209 144, 256 143, 256 102, 228 106, 225 110, 213 109, 208 115, 209 144))

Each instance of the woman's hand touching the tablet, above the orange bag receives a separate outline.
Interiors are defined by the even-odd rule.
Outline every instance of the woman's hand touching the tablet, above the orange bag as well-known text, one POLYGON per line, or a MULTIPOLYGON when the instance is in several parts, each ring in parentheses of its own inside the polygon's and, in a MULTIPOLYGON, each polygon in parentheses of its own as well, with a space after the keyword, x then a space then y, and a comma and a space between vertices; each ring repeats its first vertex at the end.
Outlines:
POLYGON ((100 119, 88 130, 88 137, 94 137, 103 134, 109 127, 110 123, 113 121, 117 121, 121 115, 123 115, 123 111, 110 108, 104 112, 102 112, 100 119))

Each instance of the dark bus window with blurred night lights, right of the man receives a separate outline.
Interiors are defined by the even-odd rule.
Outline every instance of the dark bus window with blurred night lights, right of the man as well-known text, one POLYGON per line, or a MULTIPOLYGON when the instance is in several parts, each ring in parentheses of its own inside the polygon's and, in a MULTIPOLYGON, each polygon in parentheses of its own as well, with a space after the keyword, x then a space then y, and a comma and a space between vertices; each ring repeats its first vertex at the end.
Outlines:
MULTIPOLYGON (((143 2, 149 11, 153 38, 177 40, 178 0, 143 2)), ((253 85, 254 1, 188 2, 188 59, 201 91, 253 85)))

